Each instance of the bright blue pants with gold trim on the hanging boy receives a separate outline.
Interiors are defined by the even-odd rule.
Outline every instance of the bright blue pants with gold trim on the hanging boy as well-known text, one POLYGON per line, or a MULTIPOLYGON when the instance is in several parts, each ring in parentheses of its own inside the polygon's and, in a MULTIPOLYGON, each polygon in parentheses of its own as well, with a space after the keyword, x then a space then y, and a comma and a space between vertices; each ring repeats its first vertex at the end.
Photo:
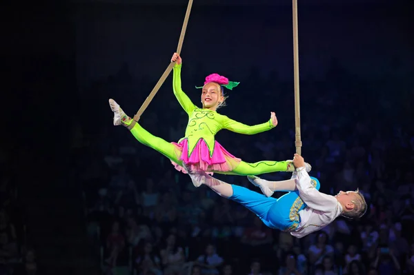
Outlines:
MULTIPOLYGON (((311 177, 311 182, 313 187, 319 190, 319 181, 311 177)), ((244 205, 262 219, 268 227, 282 231, 293 231, 299 226, 298 212, 307 206, 299 197, 299 191, 288 192, 280 198, 268 198, 239 185, 231 186, 233 187, 233 196, 230 196, 230 200, 244 205)))

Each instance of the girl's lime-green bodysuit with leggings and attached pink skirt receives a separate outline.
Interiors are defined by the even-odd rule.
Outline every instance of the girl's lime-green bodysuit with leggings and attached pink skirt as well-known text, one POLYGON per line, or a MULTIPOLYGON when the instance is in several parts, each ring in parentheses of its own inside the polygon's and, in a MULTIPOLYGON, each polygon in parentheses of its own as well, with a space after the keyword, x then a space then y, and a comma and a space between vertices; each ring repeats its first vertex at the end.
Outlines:
POLYGON ((241 176, 293 170, 293 164, 286 161, 246 163, 227 152, 215 141, 215 134, 221 129, 239 134, 258 134, 274 128, 271 120, 249 126, 213 110, 197 108, 181 90, 181 65, 174 67, 172 88, 181 107, 188 114, 184 138, 180 139, 179 143, 168 143, 147 132, 139 123, 135 123, 130 131, 139 142, 167 156, 175 164, 177 170, 186 172, 180 165, 182 163, 185 163, 190 170, 241 176))

